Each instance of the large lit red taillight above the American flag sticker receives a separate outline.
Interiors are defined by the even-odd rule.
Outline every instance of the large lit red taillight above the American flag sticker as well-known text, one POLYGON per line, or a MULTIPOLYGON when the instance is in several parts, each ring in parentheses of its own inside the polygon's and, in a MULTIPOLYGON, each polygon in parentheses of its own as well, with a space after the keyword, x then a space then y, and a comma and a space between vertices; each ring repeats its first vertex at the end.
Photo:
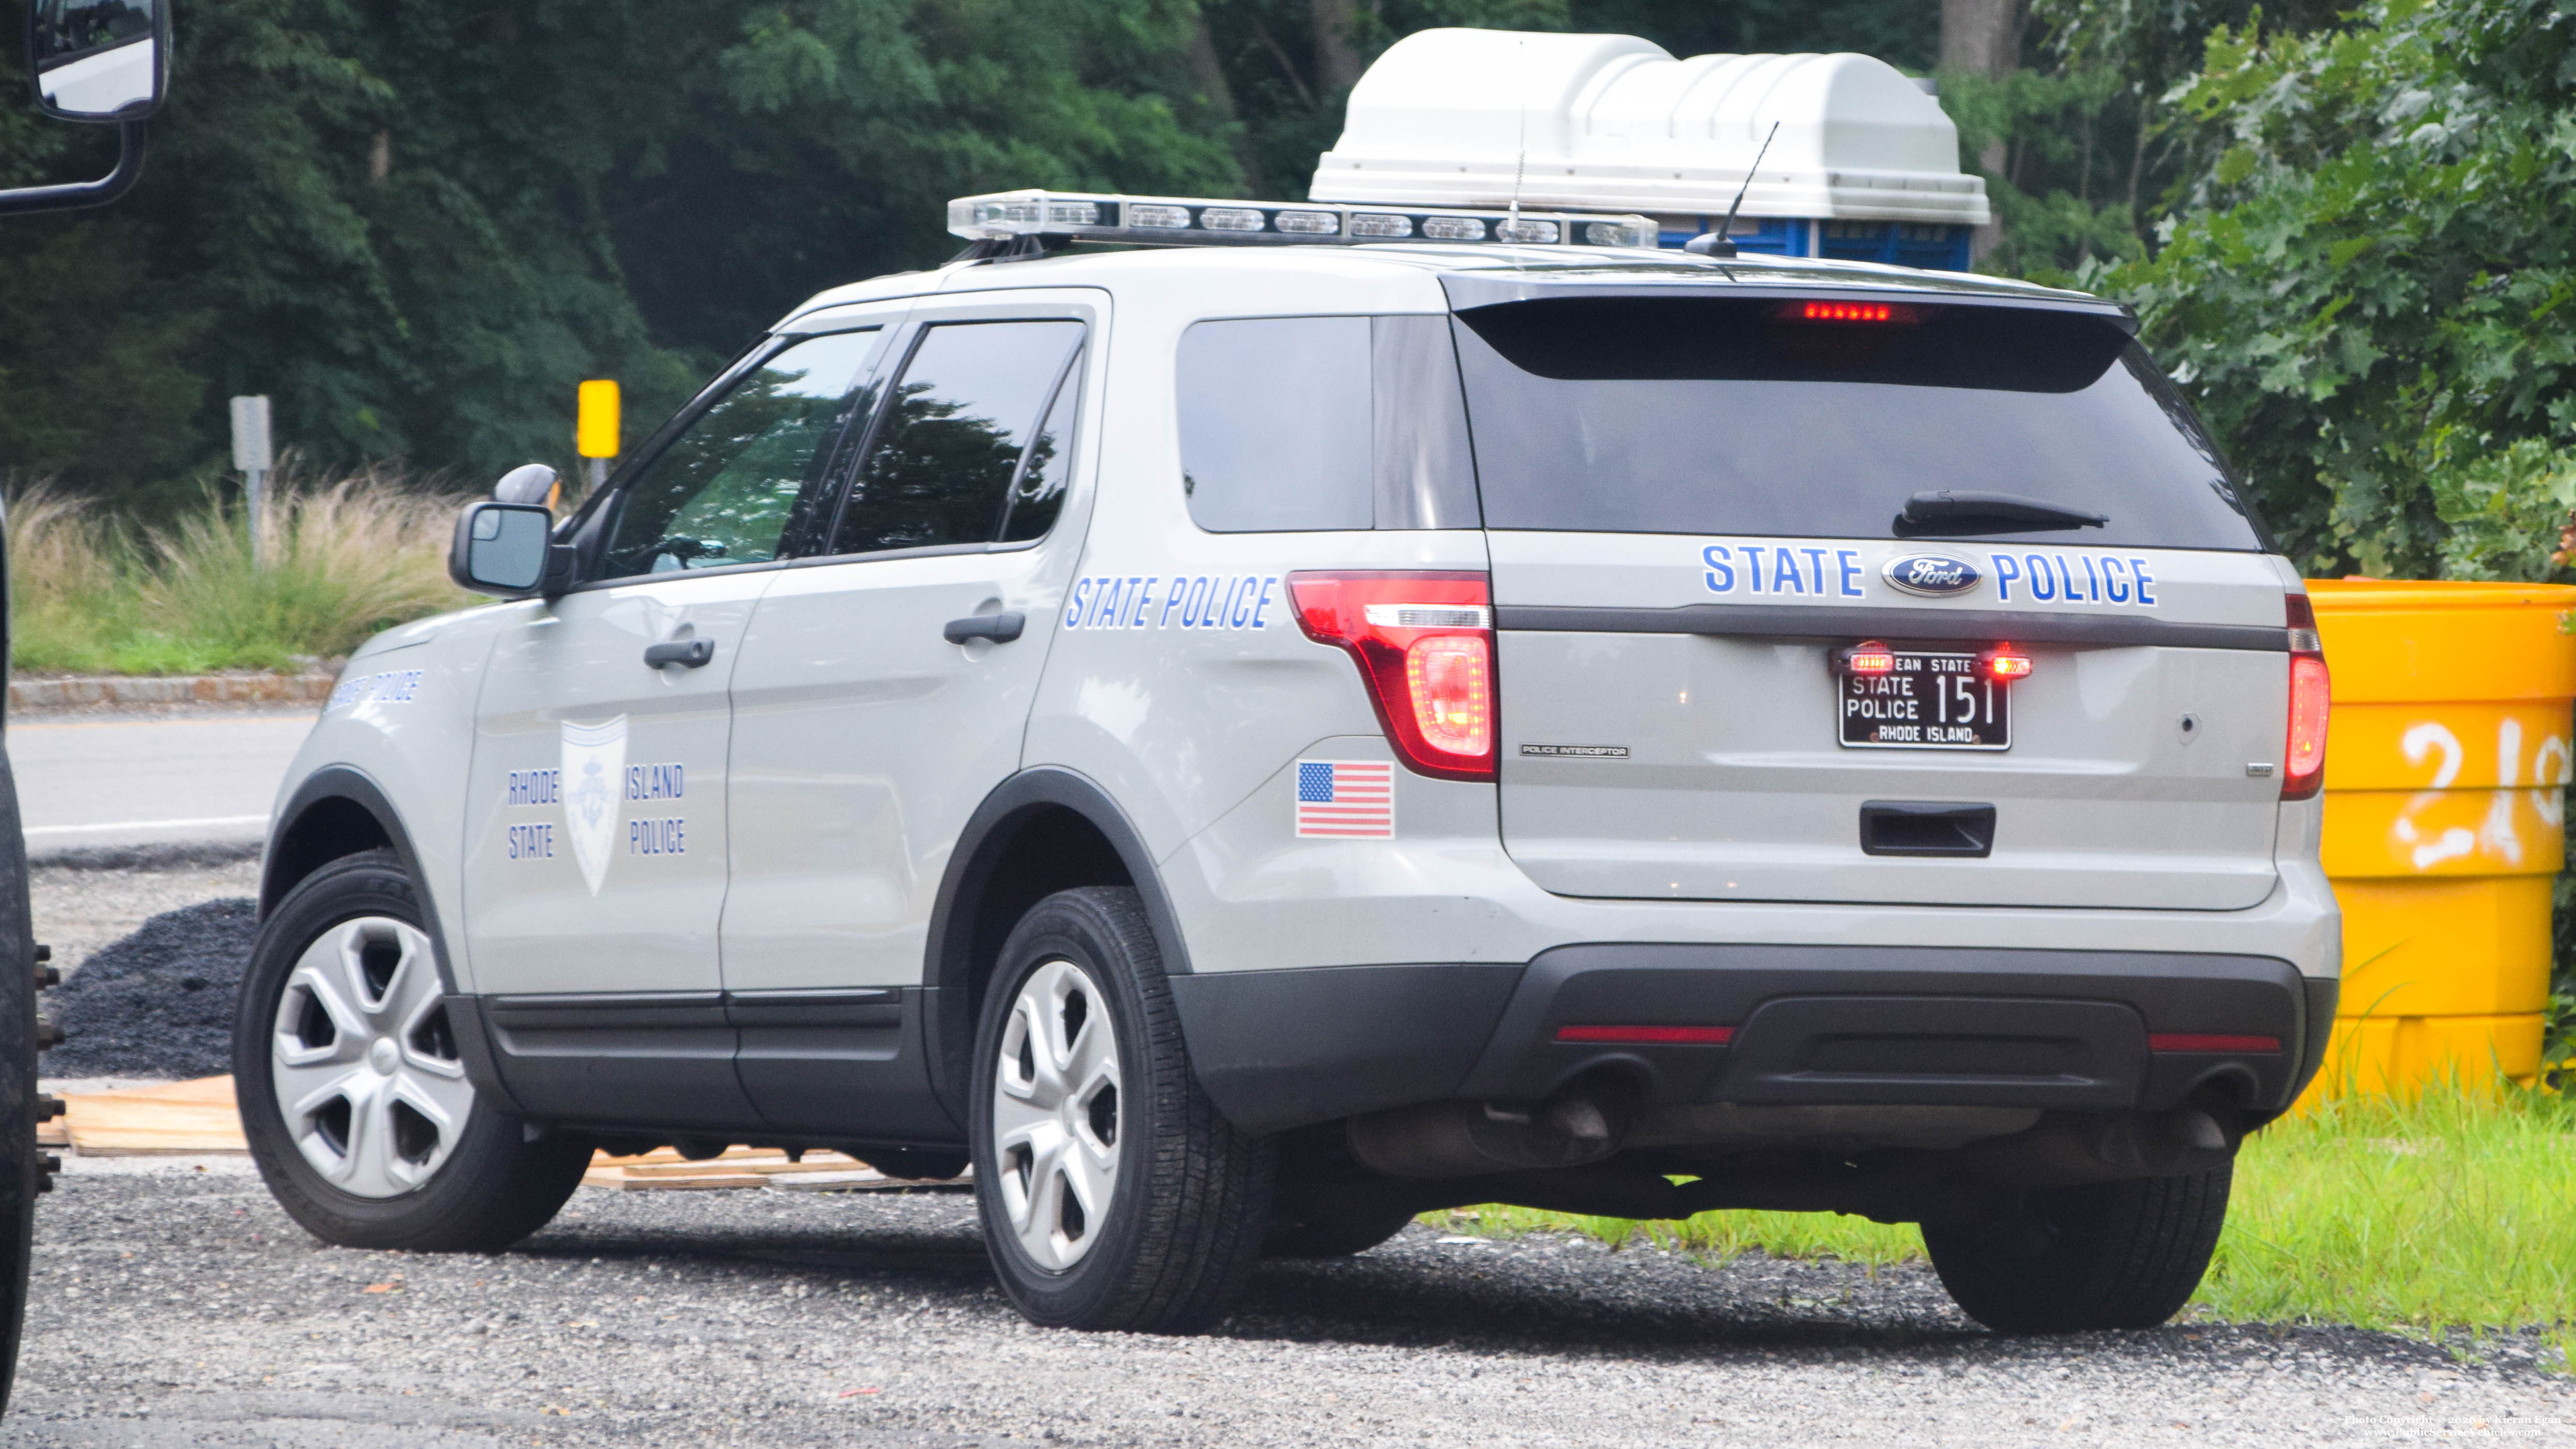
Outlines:
POLYGON ((1494 777, 1494 610, 1484 574, 1288 574, 1298 628, 1347 649, 1404 764, 1494 777))

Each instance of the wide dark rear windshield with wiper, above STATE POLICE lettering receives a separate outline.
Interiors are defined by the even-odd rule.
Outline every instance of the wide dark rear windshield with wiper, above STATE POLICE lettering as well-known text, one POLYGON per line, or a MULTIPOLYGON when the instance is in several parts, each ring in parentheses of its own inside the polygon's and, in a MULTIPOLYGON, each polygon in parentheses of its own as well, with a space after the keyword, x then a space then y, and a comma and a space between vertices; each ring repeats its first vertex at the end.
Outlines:
POLYGON ((1479 306, 1455 335, 1486 528, 2264 548, 2110 319, 1620 296, 1479 306), (2110 522, 1899 522, 1937 489, 2110 522))

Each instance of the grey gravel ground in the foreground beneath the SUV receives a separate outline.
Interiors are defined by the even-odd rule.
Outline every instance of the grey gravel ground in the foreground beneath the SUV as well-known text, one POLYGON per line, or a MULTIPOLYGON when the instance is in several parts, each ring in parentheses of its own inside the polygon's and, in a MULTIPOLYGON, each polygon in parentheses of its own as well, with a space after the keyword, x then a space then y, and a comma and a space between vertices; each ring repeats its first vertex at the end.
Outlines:
POLYGON ((2532 1338, 2007 1341, 1922 1269, 1564 1238, 1409 1228, 1146 1338, 1020 1323, 956 1194, 585 1189, 520 1251, 404 1256, 216 1163, 75 1171, 36 1233, 0 1446, 2576 1441, 2532 1338))

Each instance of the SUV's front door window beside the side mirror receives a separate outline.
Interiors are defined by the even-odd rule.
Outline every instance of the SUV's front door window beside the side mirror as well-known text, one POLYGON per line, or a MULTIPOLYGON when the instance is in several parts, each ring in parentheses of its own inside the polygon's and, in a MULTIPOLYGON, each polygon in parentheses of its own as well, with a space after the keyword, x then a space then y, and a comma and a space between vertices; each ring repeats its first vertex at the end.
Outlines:
POLYGON ((878 332, 809 337, 744 373, 626 484, 598 579, 768 564, 822 484, 878 332))

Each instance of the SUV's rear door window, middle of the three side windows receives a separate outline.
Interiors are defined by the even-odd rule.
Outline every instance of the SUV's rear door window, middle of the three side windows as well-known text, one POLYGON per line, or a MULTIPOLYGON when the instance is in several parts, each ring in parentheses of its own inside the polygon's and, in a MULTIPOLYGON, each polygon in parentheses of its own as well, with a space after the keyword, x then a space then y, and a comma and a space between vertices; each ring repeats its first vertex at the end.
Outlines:
POLYGON ((1069 319, 922 327, 840 507, 832 553, 1046 533, 1072 443, 1059 391, 1077 391, 1079 350, 1082 324, 1069 319))

